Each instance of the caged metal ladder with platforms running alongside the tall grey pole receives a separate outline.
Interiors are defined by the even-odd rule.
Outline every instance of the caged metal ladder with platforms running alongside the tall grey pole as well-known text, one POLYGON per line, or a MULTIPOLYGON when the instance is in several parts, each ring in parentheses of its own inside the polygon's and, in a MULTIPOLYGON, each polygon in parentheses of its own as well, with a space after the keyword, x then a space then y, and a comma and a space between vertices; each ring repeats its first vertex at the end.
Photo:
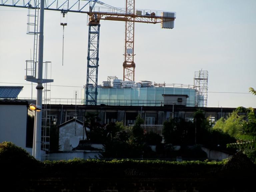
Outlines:
MULTIPOLYGON (((36 83, 37 77, 37 66, 38 66, 38 18, 39 18, 39 0, 34 1, 35 7, 32 5, 28 6, 28 22, 27 22, 27 34, 34 35, 34 46, 33 46, 33 58, 26 60, 26 76, 25 79, 30 82, 36 83)), ((51 69, 51 62, 43 62, 43 96, 42 96, 42 125, 41 125, 41 160, 45 161, 49 159, 50 152, 50 105, 48 95, 50 93, 50 86, 47 85, 49 82, 53 82, 52 79, 48 79, 48 73, 51 69), (50 67, 49 67, 50 66, 50 67)), ((35 127, 34 127, 35 129, 35 127)), ((35 130, 34 130, 35 131, 35 130)), ((34 153, 34 152, 33 152, 34 153)))

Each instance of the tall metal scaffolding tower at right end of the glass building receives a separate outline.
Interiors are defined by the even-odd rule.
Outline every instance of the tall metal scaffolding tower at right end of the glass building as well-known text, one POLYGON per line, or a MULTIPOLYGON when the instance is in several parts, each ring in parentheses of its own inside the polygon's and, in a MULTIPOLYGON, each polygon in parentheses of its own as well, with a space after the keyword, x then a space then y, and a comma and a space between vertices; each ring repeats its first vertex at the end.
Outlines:
POLYGON ((194 87, 198 91, 197 106, 207 107, 208 100, 208 71, 196 71, 194 87))

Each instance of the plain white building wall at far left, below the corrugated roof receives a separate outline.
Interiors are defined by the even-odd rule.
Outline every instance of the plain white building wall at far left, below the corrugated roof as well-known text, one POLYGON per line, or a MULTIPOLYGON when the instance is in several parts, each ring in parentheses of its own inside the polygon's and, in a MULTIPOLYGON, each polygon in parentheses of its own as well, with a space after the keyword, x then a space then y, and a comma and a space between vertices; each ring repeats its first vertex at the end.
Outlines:
POLYGON ((12 142, 32 155, 26 147, 27 110, 26 105, 0 105, 0 142, 12 142))

